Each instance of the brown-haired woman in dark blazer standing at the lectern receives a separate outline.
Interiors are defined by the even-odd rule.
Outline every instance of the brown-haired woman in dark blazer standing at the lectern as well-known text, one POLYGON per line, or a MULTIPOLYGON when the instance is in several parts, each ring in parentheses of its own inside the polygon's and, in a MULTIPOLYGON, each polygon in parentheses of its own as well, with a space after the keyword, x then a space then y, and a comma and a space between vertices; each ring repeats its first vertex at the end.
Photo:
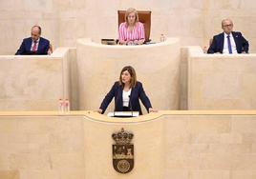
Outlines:
POLYGON ((119 81, 113 85, 97 111, 104 113, 114 97, 115 111, 133 110, 139 111, 139 115, 141 115, 142 111, 140 109, 139 99, 148 112, 157 111, 152 108, 142 84, 137 81, 135 70, 131 66, 124 67, 121 70, 119 81))

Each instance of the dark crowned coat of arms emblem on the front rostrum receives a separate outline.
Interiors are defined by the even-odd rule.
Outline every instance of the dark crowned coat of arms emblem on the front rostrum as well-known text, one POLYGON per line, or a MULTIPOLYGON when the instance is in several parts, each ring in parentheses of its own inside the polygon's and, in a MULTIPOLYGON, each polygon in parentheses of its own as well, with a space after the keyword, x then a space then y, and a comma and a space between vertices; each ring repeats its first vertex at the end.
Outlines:
POLYGON ((128 173, 134 168, 134 134, 124 129, 112 134, 116 144, 112 146, 113 166, 119 173, 128 173))

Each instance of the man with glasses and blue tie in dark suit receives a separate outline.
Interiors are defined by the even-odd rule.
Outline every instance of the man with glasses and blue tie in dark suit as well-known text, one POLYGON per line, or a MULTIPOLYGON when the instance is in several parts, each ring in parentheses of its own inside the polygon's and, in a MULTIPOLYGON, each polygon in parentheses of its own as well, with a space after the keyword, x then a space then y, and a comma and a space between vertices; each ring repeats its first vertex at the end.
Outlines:
POLYGON ((233 31, 233 22, 230 19, 222 21, 223 33, 215 35, 207 53, 248 53, 249 44, 241 32, 233 31))

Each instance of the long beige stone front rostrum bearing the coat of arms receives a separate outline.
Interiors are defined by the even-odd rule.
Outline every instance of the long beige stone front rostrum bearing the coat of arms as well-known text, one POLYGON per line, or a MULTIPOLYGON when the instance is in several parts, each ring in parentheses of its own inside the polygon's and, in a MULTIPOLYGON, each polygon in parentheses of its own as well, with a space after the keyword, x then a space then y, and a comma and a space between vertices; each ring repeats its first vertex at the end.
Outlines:
POLYGON ((0 178, 255 179, 256 111, 0 113, 0 178), (134 133, 135 168, 112 167, 113 132, 134 133))

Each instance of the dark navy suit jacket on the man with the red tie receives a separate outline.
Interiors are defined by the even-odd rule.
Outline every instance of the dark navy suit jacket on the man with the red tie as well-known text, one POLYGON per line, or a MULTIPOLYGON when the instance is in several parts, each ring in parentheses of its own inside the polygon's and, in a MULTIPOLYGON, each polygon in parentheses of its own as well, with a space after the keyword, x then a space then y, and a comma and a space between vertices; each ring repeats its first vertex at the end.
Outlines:
POLYGON ((47 52, 50 48, 50 42, 49 42, 49 40, 47 40, 43 37, 40 37, 37 51, 32 52, 31 48, 32 48, 32 37, 25 38, 25 39, 23 39, 23 42, 22 42, 19 50, 17 50, 17 52, 15 53, 15 55, 17 55, 17 54, 34 54, 34 55, 47 54, 47 52))

